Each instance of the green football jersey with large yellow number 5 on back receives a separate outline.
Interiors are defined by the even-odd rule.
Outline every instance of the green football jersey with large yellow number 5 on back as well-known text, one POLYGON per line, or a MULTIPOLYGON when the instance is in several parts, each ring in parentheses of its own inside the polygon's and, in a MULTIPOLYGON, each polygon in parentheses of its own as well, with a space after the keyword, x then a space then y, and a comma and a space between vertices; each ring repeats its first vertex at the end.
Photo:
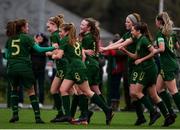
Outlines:
POLYGON ((7 40, 8 70, 26 71, 31 67, 30 50, 34 46, 34 39, 25 33, 20 33, 7 40))

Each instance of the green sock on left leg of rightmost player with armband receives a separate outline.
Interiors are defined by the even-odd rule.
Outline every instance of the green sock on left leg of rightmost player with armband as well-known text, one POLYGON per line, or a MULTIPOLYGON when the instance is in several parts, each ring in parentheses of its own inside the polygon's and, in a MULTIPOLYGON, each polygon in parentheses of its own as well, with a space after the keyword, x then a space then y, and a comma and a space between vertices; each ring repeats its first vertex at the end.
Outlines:
POLYGON ((171 113, 171 114, 174 113, 174 110, 173 110, 172 104, 171 104, 171 100, 170 100, 170 95, 167 93, 167 91, 163 91, 163 92, 159 93, 159 96, 165 103, 169 113, 171 113))

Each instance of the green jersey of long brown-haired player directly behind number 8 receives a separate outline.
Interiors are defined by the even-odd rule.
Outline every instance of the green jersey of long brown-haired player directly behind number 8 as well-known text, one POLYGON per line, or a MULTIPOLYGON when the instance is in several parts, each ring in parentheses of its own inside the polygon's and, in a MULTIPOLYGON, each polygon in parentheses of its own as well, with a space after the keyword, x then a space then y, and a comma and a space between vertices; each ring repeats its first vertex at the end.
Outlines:
MULTIPOLYGON (((82 48, 85 50, 93 50, 94 52, 96 51, 96 41, 93 38, 92 33, 87 33, 84 35, 83 39, 82 39, 82 48)), ((98 62, 98 55, 94 55, 94 56, 89 56, 86 55, 86 65, 95 65, 95 66, 99 66, 99 62, 98 62)))

